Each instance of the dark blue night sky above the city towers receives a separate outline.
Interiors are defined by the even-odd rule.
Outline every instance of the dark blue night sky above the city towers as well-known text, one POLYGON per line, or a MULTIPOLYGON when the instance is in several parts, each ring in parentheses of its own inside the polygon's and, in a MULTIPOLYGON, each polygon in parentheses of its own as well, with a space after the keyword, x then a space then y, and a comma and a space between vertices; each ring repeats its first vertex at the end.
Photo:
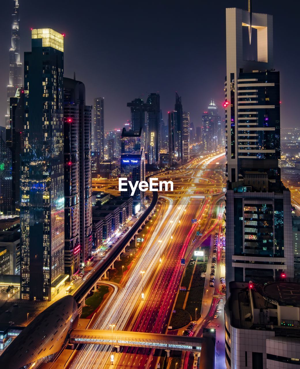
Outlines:
MULTIPOLYGON (((165 123, 175 92, 195 127, 211 98, 224 101, 225 7, 228 1, 19 0, 21 59, 31 50, 30 28, 65 33, 66 77, 86 86, 86 103, 105 98, 105 129, 123 127, 126 104, 159 92, 165 123)), ((12 0, 1 1, 0 109, 6 113, 12 0)), ((274 60, 281 79, 281 126, 299 126, 298 1, 252 1, 252 11, 273 14, 274 60)))

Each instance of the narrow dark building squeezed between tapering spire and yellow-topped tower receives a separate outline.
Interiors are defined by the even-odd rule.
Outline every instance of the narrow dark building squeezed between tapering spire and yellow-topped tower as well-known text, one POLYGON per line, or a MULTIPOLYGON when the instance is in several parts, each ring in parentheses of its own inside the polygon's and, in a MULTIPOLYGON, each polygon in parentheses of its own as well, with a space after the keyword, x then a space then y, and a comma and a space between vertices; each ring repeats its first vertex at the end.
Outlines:
POLYGON ((13 181, 11 211, 20 207, 20 154, 23 145, 24 89, 18 87, 15 96, 10 97, 9 124, 6 126, 6 145, 12 155, 11 176, 13 181))

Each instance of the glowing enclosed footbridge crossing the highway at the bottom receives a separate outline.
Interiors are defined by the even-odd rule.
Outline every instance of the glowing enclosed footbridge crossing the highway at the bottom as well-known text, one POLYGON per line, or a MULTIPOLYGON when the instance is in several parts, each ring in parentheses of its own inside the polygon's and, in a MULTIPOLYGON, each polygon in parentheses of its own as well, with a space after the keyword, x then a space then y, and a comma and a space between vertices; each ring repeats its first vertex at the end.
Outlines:
POLYGON ((97 329, 75 329, 70 333, 72 344, 113 345, 118 350, 120 346, 164 349, 168 354, 170 350, 201 352, 201 346, 208 340, 211 341, 209 338, 97 329))

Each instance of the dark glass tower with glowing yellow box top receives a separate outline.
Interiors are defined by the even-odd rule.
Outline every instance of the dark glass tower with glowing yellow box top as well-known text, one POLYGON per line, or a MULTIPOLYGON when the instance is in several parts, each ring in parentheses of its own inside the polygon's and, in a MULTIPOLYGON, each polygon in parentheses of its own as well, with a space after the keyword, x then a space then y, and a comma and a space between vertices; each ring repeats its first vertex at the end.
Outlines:
POLYGON ((21 297, 49 301, 63 287, 63 35, 33 29, 24 54, 21 297))

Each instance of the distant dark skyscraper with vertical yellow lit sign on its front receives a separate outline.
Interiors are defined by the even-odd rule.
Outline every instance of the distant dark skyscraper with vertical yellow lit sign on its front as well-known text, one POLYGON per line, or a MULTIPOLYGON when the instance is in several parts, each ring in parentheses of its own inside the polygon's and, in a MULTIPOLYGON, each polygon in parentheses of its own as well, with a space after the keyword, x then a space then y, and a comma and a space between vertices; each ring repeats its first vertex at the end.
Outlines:
POLYGON ((147 99, 148 164, 155 167, 159 165, 160 111, 159 94, 151 93, 147 99))

